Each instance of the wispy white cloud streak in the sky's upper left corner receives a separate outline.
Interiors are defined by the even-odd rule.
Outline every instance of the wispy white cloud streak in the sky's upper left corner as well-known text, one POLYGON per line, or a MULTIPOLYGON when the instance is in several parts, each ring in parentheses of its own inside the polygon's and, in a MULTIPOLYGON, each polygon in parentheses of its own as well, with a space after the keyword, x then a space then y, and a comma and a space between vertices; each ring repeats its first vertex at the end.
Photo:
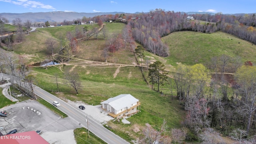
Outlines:
POLYGON ((11 4, 24 6, 25 8, 31 7, 31 8, 45 8, 45 9, 55 10, 53 6, 42 4, 41 2, 36 2, 33 0, 0 0, 0 2, 9 2, 11 4))

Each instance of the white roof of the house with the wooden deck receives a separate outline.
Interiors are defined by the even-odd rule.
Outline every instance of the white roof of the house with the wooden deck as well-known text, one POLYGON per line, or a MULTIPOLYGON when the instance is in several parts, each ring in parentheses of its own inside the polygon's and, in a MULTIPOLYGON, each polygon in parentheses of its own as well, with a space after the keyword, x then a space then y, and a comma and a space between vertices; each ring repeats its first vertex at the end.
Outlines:
POLYGON ((134 98, 130 94, 120 94, 114 98, 109 98, 108 100, 105 100, 100 104, 109 104, 115 110, 121 110, 122 108, 132 106, 132 104, 138 101, 139 101, 138 99, 134 98))

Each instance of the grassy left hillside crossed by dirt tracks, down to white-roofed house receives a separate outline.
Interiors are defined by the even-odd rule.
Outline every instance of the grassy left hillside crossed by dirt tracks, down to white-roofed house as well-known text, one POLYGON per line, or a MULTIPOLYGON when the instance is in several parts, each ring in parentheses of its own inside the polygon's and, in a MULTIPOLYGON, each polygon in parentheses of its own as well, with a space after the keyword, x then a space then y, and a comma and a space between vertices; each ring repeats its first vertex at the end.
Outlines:
MULTIPOLYGON (((88 25, 88 29, 98 25, 88 25)), ((108 34, 118 34, 122 32, 125 24, 107 23, 108 34)), ((72 31, 76 26, 61 26, 54 28, 38 28, 36 32, 31 32, 25 36, 20 44, 14 46, 14 52, 28 60, 27 64, 41 62, 49 55, 47 54, 45 41, 47 38, 54 38, 60 41, 60 36, 72 31)), ((64 100, 83 101, 90 105, 98 105, 103 100, 119 94, 131 94, 141 102, 141 111, 129 118, 132 123, 124 125, 110 122, 113 131, 120 134, 126 140, 136 139, 142 135, 141 132, 134 132, 134 126, 140 130, 149 123, 154 128, 159 128, 165 119, 169 128, 179 128, 184 119, 185 112, 179 102, 170 98, 170 90, 167 95, 161 96, 158 92, 152 91, 142 77, 140 68, 136 65, 136 58, 130 47, 121 48, 114 53, 109 53, 108 62, 105 63, 101 53, 107 40, 103 40, 102 34, 98 39, 92 36, 89 40, 79 42, 78 52, 74 53, 69 62, 63 65, 55 65, 47 70, 42 67, 32 67, 32 74, 38 79, 38 86, 51 92, 64 100), (66 86, 64 71, 75 70, 79 73, 82 83, 79 94, 76 95, 74 89, 66 86), (60 94, 56 94, 57 86, 54 74, 58 74, 60 94), (129 136, 127 136, 129 133, 129 136)), ((58 46, 60 48, 60 46, 58 46)), ((166 58, 162 58, 145 52, 150 63, 160 60, 169 66, 171 64, 166 58)), ((51 56, 50 56, 51 57, 51 56)), ((144 60, 145 63, 145 60, 144 60)), ((145 74, 147 73, 145 68, 145 74)), ((170 130, 170 129, 168 129, 170 130)), ((169 134, 170 131, 168 131, 169 134)))

